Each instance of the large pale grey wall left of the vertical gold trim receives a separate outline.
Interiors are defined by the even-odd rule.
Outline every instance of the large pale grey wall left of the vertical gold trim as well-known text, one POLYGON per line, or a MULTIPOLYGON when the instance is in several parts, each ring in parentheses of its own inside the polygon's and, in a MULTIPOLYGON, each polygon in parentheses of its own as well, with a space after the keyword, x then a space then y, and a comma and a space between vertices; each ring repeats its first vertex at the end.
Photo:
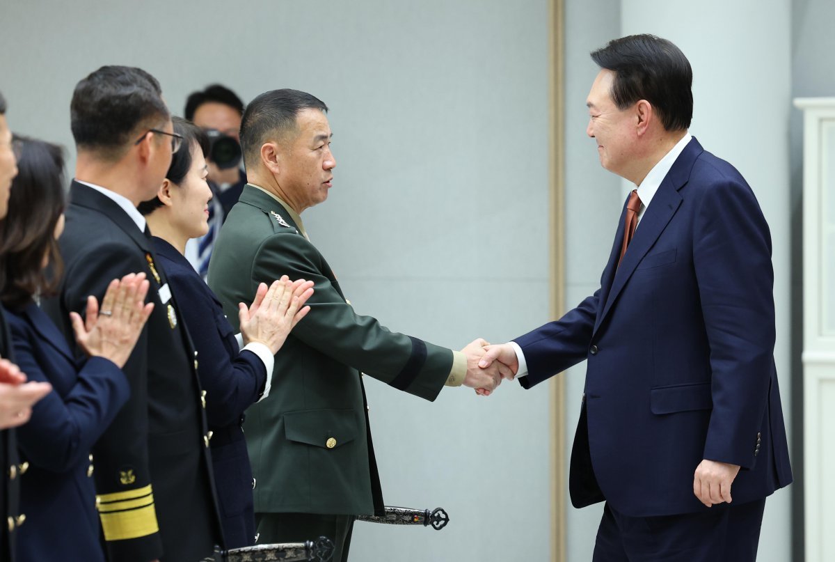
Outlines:
MULTIPOLYGON (((20 132, 72 146, 73 86, 147 69, 175 113, 212 81, 331 107, 336 180, 305 213, 357 310, 460 348, 548 319, 548 3, 528 0, 4 0, 0 89, 20 132), (239 12, 239 10, 245 10, 239 12)), ((352 559, 545 560, 544 387, 431 404, 367 382, 387 503, 443 532, 357 524, 352 559)))

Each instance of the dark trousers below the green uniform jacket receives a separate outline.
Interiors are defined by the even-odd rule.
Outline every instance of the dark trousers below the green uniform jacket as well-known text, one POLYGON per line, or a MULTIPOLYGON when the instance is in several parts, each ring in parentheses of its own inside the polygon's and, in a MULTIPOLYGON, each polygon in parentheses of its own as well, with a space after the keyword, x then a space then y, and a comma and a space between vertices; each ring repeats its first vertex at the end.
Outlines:
POLYGON ((303 543, 327 537, 333 541, 333 562, 347 562, 354 529, 353 515, 256 513, 257 544, 303 543))

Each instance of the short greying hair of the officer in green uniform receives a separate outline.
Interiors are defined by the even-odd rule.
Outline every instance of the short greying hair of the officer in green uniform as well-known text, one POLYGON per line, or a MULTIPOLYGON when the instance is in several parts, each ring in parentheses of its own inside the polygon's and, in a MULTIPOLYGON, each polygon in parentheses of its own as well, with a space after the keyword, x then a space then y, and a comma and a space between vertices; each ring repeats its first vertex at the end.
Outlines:
POLYGON ((273 89, 252 100, 240 122, 244 166, 249 168, 258 161, 261 145, 269 140, 268 136, 275 137, 295 129, 296 115, 306 109, 327 113, 327 105, 323 101, 297 89, 273 89))

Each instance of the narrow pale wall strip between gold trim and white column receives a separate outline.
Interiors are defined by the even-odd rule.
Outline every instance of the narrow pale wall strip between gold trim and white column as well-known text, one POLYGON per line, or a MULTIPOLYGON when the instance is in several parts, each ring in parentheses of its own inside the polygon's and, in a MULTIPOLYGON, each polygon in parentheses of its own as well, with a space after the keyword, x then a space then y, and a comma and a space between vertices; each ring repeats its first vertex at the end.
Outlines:
MULTIPOLYGON (((565 309, 600 288, 603 271, 623 206, 620 179, 600 166, 595 140, 585 134, 589 110, 585 100, 598 73, 589 53, 620 36, 620 0, 567 0, 565 3, 565 309)), ((568 451, 579 418, 585 362, 565 377, 564 434, 568 451)), ((568 493, 566 493, 568 498, 568 493)), ((566 559, 590 560, 603 504, 566 508, 566 559)))

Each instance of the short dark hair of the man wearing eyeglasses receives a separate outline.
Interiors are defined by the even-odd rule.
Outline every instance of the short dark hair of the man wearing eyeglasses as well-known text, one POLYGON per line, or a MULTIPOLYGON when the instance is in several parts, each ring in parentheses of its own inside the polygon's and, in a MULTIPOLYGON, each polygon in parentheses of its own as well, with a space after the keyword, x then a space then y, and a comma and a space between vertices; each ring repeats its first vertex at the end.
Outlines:
POLYGON ((75 144, 111 158, 140 127, 170 117, 157 79, 129 66, 103 66, 89 74, 76 84, 69 107, 75 144))

